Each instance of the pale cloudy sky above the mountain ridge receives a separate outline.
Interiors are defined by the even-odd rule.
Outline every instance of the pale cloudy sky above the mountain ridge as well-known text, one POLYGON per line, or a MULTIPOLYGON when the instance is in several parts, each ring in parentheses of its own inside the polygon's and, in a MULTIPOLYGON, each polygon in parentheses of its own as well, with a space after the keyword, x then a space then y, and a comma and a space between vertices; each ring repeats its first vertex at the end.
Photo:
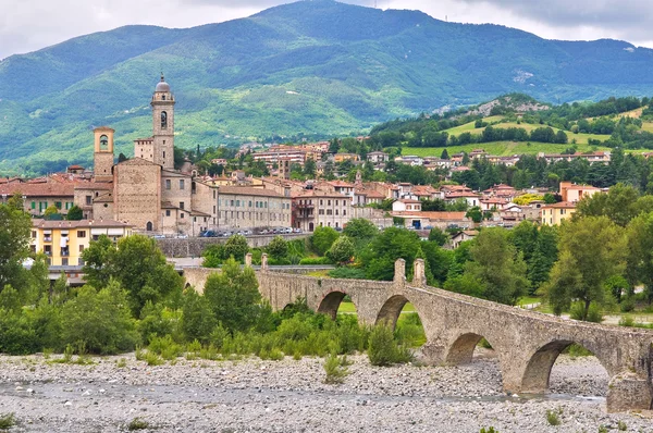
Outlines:
MULTIPOLYGON (((0 59, 126 24, 190 27, 289 0, 0 0, 0 59)), ((374 5, 374 0, 346 0, 374 5)), ((378 0, 460 23, 494 23, 550 39, 628 40, 653 48, 651 0, 378 0)))

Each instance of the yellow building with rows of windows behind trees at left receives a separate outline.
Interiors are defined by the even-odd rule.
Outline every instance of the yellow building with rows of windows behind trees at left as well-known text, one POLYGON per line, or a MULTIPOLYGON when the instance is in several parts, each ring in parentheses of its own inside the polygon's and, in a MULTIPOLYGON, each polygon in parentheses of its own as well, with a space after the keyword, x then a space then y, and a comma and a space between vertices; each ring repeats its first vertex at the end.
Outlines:
POLYGON ((132 225, 109 220, 47 221, 32 222, 32 251, 48 256, 54 267, 83 264, 82 251, 107 235, 113 242, 132 234, 132 225))

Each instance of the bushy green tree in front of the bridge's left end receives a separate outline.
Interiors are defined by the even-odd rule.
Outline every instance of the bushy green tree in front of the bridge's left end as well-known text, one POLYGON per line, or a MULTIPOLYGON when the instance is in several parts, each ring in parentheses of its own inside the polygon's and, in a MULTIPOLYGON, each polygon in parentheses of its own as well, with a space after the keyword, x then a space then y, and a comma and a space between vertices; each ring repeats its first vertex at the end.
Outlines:
POLYGON ((215 320, 232 333, 254 327, 263 311, 254 270, 241 269, 234 259, 224 263, 221 273, 209 275, 205 297, 215 320))

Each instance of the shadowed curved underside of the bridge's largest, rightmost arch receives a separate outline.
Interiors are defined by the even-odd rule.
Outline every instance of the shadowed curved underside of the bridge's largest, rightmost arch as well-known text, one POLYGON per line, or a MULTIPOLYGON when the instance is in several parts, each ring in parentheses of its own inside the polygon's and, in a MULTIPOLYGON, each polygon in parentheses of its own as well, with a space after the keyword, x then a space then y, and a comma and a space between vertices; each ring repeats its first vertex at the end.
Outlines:
POLYGON ((600 350, 593 347, 591 343, 575 342, 572 339, 555 339, 539 347, 529 356, 521 378, 521 392, 545 393, 549 391, 551 371, 553 370, 555 361, 567 347, 575 343, 584 349, 590 350, 592 355, 596 357, 609 378, 616 374, 616 372, 611 371, 608 364, 601 359, 600 350))

